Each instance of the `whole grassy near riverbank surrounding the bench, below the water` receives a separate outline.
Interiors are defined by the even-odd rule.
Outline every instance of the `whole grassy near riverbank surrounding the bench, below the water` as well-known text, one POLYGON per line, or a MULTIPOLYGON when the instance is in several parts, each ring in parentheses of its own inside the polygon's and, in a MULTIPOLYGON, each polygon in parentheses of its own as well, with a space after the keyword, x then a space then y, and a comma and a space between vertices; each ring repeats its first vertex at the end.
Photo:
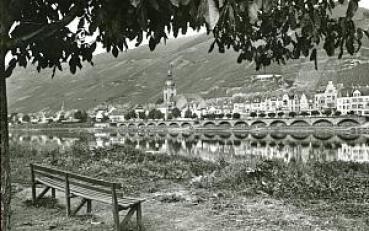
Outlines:
POLYGON ((147 230, 369 229, 368 164, 214 163, 129 147, 91 153, 74 146, 60 153, 13 145, 11 153, 16 230, 112 226, 110 209, 100 205, 94 207, 94 217, 66 219, 62 195, 58 204, 46 200, 47 208, 29 206, 30 162, 121 182, 126 195, 148 198, 143 207, 147 230), (50 219, 48 213, 53 214, 50 219))

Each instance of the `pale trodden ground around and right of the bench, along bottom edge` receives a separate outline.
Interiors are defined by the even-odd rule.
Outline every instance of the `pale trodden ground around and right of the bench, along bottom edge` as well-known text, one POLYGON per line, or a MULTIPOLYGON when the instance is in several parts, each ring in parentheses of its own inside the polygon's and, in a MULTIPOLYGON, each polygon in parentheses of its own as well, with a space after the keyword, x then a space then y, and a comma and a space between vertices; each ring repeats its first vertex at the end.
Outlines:
MULTIPOLYGON (((29 188, 15 194, 13 200, 14 230, 113 230, 111 208, 93 203, 93 216, 81 214, 66 217, 64 194, 57 199, 45 199, 39 206, 31 206, 29 188), (55 203, 56 202, 56 203, 55 203)), ((143 203, 144 226, 147 231, 172 230, 367 230, 365 219, 349 219, 342 215, 314 215, 311 209, 300 209, 267 195, 256 197, 228 197, 213 195, 203 189, 168 188, 140 195, 143 203), (162 201, 164 196, 181 195, 181 200, 162 201), (206 198, 195 202, 194 198, 206 198)), ((72 201, 72 207, 78 200, 72 201)), ((134 221, 134 219, 133 219, 134 221)), ((130 224, 130 230, 137 230, 130 224)))

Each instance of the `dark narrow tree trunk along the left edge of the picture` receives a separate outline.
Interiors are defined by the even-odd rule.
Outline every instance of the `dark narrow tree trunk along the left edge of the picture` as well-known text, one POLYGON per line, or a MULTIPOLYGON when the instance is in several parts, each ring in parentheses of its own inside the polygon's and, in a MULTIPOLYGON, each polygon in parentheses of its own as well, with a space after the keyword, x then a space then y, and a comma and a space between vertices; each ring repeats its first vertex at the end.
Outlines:
MULTIPOLYGON (((0 52, 2 53, 2 52, 0 52)), ((8 105, 6 98, 5 55, 0 54, 0 162, 1 162, 1 230, 10 230, 10 156, 8 105)))

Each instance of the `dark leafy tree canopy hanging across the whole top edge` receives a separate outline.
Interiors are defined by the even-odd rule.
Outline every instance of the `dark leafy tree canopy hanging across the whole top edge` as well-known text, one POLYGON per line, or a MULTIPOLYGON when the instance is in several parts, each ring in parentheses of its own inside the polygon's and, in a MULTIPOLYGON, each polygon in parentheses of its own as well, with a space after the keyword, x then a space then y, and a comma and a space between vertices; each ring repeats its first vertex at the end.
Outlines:
POLYGON ((257 69, 300 56, 317 63, 320 46, 329 56, 336 50, 338 57, 345 50, 352 55, 369 36, 353 21, 358 1, 350 0, 346 14, 333 17, 344 1, 2 0, 0 48, 12 54, 4 74, 28 63, 54 72, 68 63, 75 73, 83 61, 93 64, 98 42, 117 57, 130 40, 138 46, 146 37, 153 50, 169 33, 176 37, 202 26, 214 35, 210 51, 215 45, 221 53, 233 48, 238 62, 254 61, 257 69), (71 22, 76 29, 68 27, 71 22), (85 40, 90 36, 95 39, 85 40))

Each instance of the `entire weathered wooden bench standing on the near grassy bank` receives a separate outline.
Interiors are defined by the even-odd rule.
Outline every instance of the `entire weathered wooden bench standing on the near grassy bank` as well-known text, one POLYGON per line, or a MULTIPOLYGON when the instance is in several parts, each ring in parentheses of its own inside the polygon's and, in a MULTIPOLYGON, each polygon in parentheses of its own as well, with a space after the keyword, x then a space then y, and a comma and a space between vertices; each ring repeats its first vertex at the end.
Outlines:
POLYGON ((51 196, 55 198, 55 190, 65 192, 67 216, 75 215, 86 204, 87 213, 91 214, 92 201, 99 201, 112 205, 115 230, 123 230, 132 215, 136 212, 137 224, 140 230, 142 225, 141 203, 144 199, 123 197, 119 183, 98 180, 78 175, 68 171, 31 164, 32 201, 33 204, 42 198, 50 189, 51 196), (36 185, 42 184, 45 188, 36 195, 36 185), (81 198, 80 204, 71 211, 71 198, 81 198), (119 222, 119 212, 128 210, 122 222, 119 222))

